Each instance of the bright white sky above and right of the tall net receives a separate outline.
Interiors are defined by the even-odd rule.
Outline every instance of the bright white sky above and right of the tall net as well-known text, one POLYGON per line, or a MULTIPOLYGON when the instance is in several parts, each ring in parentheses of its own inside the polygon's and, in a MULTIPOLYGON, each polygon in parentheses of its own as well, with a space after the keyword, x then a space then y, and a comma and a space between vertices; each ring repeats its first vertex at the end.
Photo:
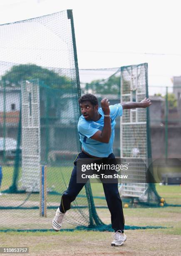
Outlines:
POLYGON ((66 9, 73 10, 79 69, 148 62, 149 86, 158 88, 181 75, 179 0, 1 0, 0 24, 66 9))

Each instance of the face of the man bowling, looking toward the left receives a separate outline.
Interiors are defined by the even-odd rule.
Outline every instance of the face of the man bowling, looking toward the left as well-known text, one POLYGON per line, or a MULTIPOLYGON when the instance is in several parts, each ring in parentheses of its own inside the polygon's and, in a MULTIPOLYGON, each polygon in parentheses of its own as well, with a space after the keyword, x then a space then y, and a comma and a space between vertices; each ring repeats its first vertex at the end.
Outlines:
POLYGON ((93 106, 89 101, 84 101, 83 103, 80 103, 80 109, 85 120, 90 121, 94 119, 98 110, 98 105, 93 106))

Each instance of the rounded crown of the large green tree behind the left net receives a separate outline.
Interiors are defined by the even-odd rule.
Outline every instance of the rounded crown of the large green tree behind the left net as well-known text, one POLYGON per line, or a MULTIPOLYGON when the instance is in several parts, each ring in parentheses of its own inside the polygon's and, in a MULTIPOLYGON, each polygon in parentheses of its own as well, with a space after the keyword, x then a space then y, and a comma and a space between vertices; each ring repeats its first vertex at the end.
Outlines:
POLYGON ((47 86, 55 89, 70 89, 71 80, 68 77, 60 76, 58 73, 37 66, 35 64, 20 64, 13 66, 10 71, 1 77, 8 87, 20 87, 20 82, 31 79, 39 79, 47 86))

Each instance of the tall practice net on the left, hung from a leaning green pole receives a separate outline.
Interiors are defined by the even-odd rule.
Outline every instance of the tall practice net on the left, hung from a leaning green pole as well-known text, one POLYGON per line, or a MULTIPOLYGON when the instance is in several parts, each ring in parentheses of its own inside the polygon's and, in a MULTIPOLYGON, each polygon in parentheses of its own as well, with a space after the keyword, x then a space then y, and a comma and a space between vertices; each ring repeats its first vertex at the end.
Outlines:
MULTIPOLYGON (((0 35, 0 229, 50 229, 80 149, 72 12, 4 24, 0 35), (47 218, 39 214, 42 164, 47 218)), ((64 228, 100 224, 87 183, 64 228)))

